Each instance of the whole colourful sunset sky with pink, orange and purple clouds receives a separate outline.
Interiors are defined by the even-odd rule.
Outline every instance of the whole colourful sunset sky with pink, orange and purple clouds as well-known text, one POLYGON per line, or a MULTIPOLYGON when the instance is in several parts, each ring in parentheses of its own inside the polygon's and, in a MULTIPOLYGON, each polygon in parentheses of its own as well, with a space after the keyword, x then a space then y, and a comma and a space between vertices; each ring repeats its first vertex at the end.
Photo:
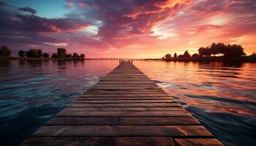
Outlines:
POLYGON ((0 45, 86 58, 162 58, 213 42, 256 52, 255 0, 0 0, 0 45))

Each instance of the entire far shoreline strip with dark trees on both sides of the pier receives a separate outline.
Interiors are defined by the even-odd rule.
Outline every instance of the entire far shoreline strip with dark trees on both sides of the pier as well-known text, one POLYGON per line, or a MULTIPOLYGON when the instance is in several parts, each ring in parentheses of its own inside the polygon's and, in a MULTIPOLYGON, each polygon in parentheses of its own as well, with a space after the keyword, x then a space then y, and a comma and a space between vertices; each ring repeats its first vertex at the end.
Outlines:
MULTIPOLYGON (((82 53, 68 54, 65 48, 57 48, 56 53, 50 57, 48 53, 42 53, 40 49, 19 50, 19 57, 11 56, 12 51, 7 46, 0 48, 0 59, 10 60, 30 60, 30 61, 72 61, 72 60, 120 60, 129 58, 85 58, 82 53)), ((221 42, 213 43, 208 47, 200 47, 198 53, 190 55, 186 50, 184 54, 177 55, 174 53, 166 54, 162 58, 136 58, 134 61, 240 61, 240 62, 256 62, 256 53, 246 55, 244 48, 241 45, 225 45, 221 42)))

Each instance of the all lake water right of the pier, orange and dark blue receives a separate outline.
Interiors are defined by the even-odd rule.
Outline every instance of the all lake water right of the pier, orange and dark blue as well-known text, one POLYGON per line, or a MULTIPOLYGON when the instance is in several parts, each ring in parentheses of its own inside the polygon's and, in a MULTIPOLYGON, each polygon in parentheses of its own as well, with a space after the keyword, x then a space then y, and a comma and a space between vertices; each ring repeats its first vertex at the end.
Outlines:
POLYGON ((256 64, 136 61, 225 145, 255 145, 256 64))

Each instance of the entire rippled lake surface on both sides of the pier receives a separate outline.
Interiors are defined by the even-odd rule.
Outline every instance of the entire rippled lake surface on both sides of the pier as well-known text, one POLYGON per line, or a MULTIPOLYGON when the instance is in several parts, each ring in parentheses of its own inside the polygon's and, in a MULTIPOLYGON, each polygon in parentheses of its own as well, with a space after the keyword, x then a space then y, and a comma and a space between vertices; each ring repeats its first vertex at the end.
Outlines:
MULTIPOLYGON (((256 64, 134 61, 225 145, 255 145, 256 64)), ((118 60, 0 61, 0 145, 18 145, 118 60)))

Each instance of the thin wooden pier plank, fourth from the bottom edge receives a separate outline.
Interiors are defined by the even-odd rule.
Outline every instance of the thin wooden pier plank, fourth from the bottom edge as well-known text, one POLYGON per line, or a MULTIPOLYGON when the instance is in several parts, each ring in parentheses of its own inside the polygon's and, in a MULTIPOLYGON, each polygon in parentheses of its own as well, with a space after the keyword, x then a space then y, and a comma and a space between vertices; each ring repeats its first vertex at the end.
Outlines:
POLYGON ((110 111, 110 112, 85 112, 85 111, 74 111, 74 110, 62 110, 59 112, 57 117, 185 117, 191 116, 189 112, 184 111, 110 111))

